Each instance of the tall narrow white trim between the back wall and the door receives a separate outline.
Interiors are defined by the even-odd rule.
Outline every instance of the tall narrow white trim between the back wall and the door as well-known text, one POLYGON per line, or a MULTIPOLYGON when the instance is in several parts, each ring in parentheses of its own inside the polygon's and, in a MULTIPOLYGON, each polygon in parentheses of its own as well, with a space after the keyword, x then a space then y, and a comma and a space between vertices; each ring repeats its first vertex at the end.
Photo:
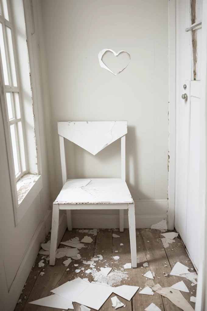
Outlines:
POLYGON ((175 159, 176 159, 176 1, 168 1, 168 102, 169 102, 169 154, 168 154, 168 229, 174 229, 175 159))

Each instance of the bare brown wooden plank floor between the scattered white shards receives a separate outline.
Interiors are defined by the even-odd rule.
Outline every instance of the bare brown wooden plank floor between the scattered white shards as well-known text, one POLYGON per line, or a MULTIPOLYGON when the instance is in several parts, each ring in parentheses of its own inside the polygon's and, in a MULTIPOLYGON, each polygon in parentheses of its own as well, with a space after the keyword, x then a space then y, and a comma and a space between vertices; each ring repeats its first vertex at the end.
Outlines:
MULTIPOLYGON (((170 232, 170 231, 168 231, 170 232)), ((183 296, 195 308, 195 303, 190 302, 190 296, 196 296, 196 285, 191 285, 191 281, 180 276, 164 276, 169 274, 171 269, 174 267, 177 261, 181 262, 189 268, 194 268, 190 261, 185 248, 181 242, 179 236, 174 239, 175 242, 164 248, 161 238, 160 230, 153 229, 141 229, 136 230, 137 234, 137 268, 125 270, 128 272, 128 279, 123 279, 120 285, 136 285, 142 289, 149 285, 153 286, 159 283, 162 287, 169 287, 179 281, 184 281, 185 285, 189 289, 189 293, 182 292, 183 296), (149 267, 143 267, 143 263, 148 262, 149 267), (167 265, 167 267, 164 267, 167 265), (147 271, 151 270, 155 272, 154 280, 147 279, 143 276, 147 271)), ((66 241, 73 237, 79 237, 81 240, 87 233, 80 233, 78 230, 73 229, 72 231, 66 230, 62 241, 66 241)), ((116 268, 120 270, 125 263, 131 262, 130 254, 130 240, 129 230, 125 229, 124 232, 119 232, 113 229, 101 229, 97 232, 97 236, 90 235, 93 239, 91 244, 87 244, 88 248, 81 248, 79 250, 82 260, 90 260, 94 255, 102 254, 103 261, 101 266, 104 267, 108 264, 108 267, 116 268), (113 238, 112 234, 118 234, 120 238, 113 238), (123 243, 123 246, 120 245, 123 243), (116 251, 116 252, 115 252, 116 251), (117 252, 118 251, 118 252, 117 252), (113 256, 119 256, 119 260, 113 259, 113 256)), ((50 235, 47 237, 50 240, 50 235)), ((86 245, 86 244, 85 244, 86 245)), ((63 247, 61 245, 60 247, 63 247)), ((78 263, 78 269, 82 267, 88 268, 89 266, 84 265, 82 260, 72 260, 68 267, 63 265, 63 261, 66 258, 56 259, 55 266, 50 266, 49 262, 44 261, 45 266, 39 268, 38 262, 41 261, 43 255, 38 255, 34 266, 28 276, 26 285, 22 290, 20 299, 21 303, 16 305, 15 311, 55 311, 60 309, 47 308, 37 305, 28 304, 28 302, 40 299, 51 295, 51 290, 55 287, 60 286, 66 281, 71 281, 77 276, 84 278, 87 277, 89 281, 93 281, 93 277, 89 274, 86 275, 84 272, 76 273, 74 263, 78 263), (69 268, 69 271, 66 269, 69 268), (43 276, 40 272, 45 272, 43 276)), ((99 262, 100 265, 100 262, 99 262)), ((194 270, 189 270, 193 272, 194 270)), ((124 311, 143 311, 152 302, 156 304, 162 311, 179 311, 180 308, 176 307, 171 301, 165 297, 154 292, 154 295, 140 295, 139 290, 134 295, 131 301, 127 301, 122 297, 118 297, 126 307, 124 311)), ((115 296, 112 294, 110 297, 115 296)), ((80 311, 79 304, 74 303, 75 311, 80 311)), ((100 311, 112 311, 111 299, 108 298, 103 304, 100 311)), ((95 311, 91 309, 91 311, 95 311)))

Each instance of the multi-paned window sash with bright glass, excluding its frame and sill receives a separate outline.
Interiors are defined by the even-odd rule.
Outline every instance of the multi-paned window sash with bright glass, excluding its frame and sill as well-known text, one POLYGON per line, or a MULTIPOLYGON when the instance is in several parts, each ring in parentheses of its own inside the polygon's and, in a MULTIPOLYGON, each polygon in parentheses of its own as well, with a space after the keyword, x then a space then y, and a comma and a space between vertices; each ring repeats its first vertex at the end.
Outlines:
POLYGON ((16 181, 28 171, 18 66, 9 2, 0 1, 0 49, 16 181))

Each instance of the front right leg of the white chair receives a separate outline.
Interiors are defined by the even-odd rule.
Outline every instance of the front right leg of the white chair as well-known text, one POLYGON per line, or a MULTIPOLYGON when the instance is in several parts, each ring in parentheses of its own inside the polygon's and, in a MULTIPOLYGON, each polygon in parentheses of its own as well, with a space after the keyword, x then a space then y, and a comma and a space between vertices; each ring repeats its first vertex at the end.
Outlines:
POLYGON ((134 204, 128 204, 128 216, 129 216, 129 237, 130 237, 130 246, 131 246, 132 268, 136 268, 137 267, 137 244, 136 244, 134 204))

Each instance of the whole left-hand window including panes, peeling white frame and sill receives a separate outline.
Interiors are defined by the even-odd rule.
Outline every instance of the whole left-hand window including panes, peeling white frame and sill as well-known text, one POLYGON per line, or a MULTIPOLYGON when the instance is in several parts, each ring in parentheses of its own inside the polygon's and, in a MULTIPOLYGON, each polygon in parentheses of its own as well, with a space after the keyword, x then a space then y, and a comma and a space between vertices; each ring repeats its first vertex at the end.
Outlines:
POLYGON ((38 163, 41 167, 41 151, 35 78, 39 63, 35 63, 38 52, 37 41, 32 40, 35 30, 31 30, 30 4, 29 0, 0 0, 0 104, 16 225, 42 189, 38 167, 38 163))

